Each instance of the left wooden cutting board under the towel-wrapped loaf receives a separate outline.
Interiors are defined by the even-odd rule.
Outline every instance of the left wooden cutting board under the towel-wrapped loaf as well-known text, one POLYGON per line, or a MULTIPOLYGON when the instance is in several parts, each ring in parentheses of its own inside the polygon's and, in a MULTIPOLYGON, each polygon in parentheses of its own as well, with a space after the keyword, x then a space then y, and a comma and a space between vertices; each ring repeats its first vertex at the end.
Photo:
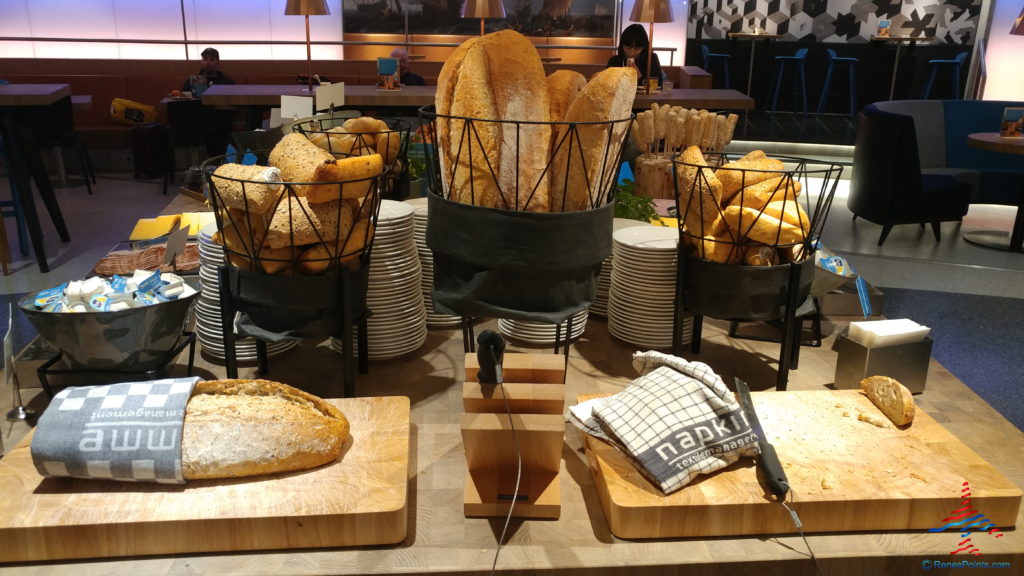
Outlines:
POLYGON ((390 544, 406 538, 406 397, 330 400, 335 463, 184 486, 42 478, 28 437, 0 459, 0 562, 390 544))

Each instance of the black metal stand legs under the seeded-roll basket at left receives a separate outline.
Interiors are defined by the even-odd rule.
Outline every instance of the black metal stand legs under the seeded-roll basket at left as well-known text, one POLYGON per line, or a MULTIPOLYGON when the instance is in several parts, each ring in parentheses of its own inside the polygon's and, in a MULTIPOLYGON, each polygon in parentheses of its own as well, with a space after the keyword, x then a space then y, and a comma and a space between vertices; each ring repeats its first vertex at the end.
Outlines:
MULTIPOLYGON (((366 310, 360 311, 358 314, 352 310, 350 298, 354 290, 352 273, 342 269, 339 277, 341 279, 341 293, 339 294, 341 302, 341 327, 339 330, 341 333, 337 334, 336 332, 335 337, 341 340, 341 355, 344 364, 342 395, 345 398, 352 398, 355 396, 356 369, 356 363, 352 362, 352 328, 357 327, 356 329, 358 330, 358 351, 355 360, 359 373, 366 374, 370 371, 370 345, 367 341, 369 332, 367 320, 369 315, 366 310)), ((232 292, 227 266, 217 268, 217 282, 220 289, 220 328, 224 340, 224 362, 227 377, 238 378, 239 367, 234 347, 234 315, 239 312, 239 306, 231 296, 232 292)), ((260 376, 263 376, 269 372, 266 342, 259 338, 254 339, 256 340, 257 371, 260 376)))

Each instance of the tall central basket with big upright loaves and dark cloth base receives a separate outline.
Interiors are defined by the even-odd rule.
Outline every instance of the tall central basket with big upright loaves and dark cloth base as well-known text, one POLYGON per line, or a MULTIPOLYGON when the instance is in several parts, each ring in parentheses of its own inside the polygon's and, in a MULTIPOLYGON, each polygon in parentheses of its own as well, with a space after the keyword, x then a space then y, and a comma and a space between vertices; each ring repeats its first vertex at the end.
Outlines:
POLYGON ((548 76, 511 30, 453 52, 420 110, 435 310, 562 322, 589 305, 635 86, 626 68, 548 76))

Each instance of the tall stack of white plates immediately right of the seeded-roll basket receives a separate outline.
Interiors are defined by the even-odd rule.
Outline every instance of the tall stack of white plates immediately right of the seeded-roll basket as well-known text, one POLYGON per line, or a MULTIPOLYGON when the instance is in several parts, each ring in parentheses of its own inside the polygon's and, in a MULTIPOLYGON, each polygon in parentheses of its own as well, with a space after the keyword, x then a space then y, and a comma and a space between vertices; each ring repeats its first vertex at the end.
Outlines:
MULTIPOLYGON (((412 206, 381 201, 370 252, 367 348, 370 360, 386 360, 419 349, 427 340, 427 311, 420 288, 420 256, 413 241, 412 206)), ((358 337, 353 329, 354 337, 358 337)), ((331 338, 341 352, 341 340, 331 338)))

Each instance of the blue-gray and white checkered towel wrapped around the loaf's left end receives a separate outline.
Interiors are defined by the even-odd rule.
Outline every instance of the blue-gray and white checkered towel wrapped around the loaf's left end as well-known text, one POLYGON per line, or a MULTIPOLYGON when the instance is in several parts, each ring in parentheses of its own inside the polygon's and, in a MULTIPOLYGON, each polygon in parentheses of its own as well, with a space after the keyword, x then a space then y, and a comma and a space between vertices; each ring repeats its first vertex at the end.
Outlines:
POLYGON ((199 377, 60 390, 39 418, 32 461, 47 477, 184 484, 181 431, 199 377))

